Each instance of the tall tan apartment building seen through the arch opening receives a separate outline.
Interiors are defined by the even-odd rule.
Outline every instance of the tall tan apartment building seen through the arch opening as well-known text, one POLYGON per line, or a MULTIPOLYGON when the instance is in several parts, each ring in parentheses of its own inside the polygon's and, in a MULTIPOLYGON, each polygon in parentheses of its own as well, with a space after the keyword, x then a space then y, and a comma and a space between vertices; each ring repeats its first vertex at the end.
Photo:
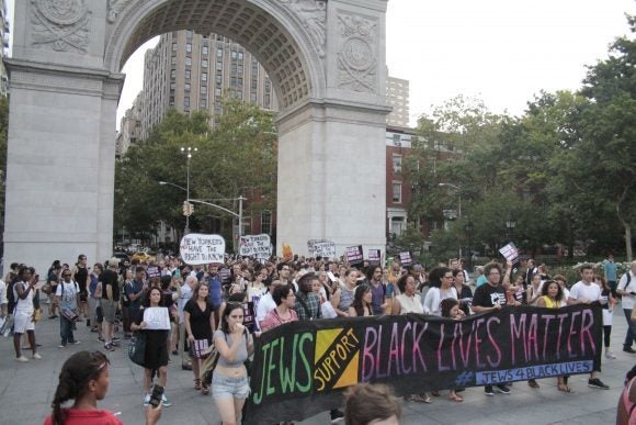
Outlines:
POLYGON ((214 125, 224 97, 279 109, 264 68, 240 44, 190 30, 163 34, 145 57, 140 136, 146 138, 169 108, 182 113, 207 110, 214 125))

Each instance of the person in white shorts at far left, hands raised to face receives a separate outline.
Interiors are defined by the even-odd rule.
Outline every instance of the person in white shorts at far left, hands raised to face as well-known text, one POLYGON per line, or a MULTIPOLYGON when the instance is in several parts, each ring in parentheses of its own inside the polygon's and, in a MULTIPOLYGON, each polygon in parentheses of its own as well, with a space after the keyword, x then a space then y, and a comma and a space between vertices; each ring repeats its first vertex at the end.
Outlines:
POLYGON ((37 280, 33 279, 31 269, 22 267, 18 271, 18 281, 13 284, 13 299, 15 306, 13 309, 13 347, 15 348, 15 360, 20 362, 27 362, 29 359, 23 356, 20 346, 22 334, 26 332, 29 344, 33 351, 33 358, 42 359, 37 353, 37 345, 35 344, 35 321, 33 315, 35 307, 33 306, 33 294, 35 293, 35 286, 37 280))

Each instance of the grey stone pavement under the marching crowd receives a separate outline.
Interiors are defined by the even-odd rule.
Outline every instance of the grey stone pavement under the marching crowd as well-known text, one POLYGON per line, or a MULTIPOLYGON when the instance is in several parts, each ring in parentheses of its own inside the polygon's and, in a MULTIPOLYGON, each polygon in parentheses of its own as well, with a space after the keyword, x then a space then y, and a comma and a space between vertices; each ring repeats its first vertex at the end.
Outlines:
MULTIPOLYGON (((45 306, 46 311, 46 306, 45 306)), ((556 379, 538 380, 541 389, 531 389, 525 382, 515 382, 509 395, 486 396, 481 388, 468 389, 463 403, 453 403, 443 391, 432 404, 405 403, 404 424, 609 424, 615 422, 616 403, 625 372, 636 362, 636 355, 623 353, 625 317, 617 307, 614 312, 612 347, 617 358, 603 357, 600 378, 611 387, 609 391, 591 389, 587 376, 570 378, 573 392, 557 391, 556 379)), ((98 350, 102 345, 96 334, 84 325, 78 326, 78 346, 57 348, 59 322, 44 318, 36 325, 36 338, 42 347, 42 360, 19 364, 14 360, 12 339, 0 337, 0 424, 42 424, 50 411, 57 377, 64 361, 77 350, 98 350)), ((125 346, 126 344, 123 344, 125 346)), ((102 409, 117 413, 125 424, 143 424, 143 370, 127 358, 125 347, 109 354, 111 387, 102 409)), ((171 407, 164 407, 161 424, 219 424, 211 396, 193 389, 192 372, 181 370, 180 358, 172 357, 169 366, 167 395, 171 407)), ((321 413, 302 424, 328 424, 328 413, 321 413)))

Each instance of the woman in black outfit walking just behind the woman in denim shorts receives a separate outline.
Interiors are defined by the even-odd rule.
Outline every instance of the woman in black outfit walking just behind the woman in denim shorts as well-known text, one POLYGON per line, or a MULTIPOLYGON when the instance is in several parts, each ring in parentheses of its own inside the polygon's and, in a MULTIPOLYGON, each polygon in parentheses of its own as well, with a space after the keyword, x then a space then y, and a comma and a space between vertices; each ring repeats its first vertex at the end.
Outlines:
POLYGON ((204 351, 212 345, 212 333, 215 329, 214 307, 209 301, 209 288, 207 284, 198 284, 194 288, 192 298, 183 307, 183 322, 185 335, 190 346, 192 359, 192 373, 194 373, 194 389, 202 394, 209 393, 209 387, 201 382, 201 358, 204 351))

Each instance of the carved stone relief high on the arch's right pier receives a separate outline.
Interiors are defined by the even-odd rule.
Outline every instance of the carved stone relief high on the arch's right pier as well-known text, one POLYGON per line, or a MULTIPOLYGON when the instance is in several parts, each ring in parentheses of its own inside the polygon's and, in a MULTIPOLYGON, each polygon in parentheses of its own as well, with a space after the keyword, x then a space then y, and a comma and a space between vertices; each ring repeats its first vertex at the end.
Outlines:
POLYGON ((354 14, 338 15, 338 87, 377 93, 377 21, 354 14))

